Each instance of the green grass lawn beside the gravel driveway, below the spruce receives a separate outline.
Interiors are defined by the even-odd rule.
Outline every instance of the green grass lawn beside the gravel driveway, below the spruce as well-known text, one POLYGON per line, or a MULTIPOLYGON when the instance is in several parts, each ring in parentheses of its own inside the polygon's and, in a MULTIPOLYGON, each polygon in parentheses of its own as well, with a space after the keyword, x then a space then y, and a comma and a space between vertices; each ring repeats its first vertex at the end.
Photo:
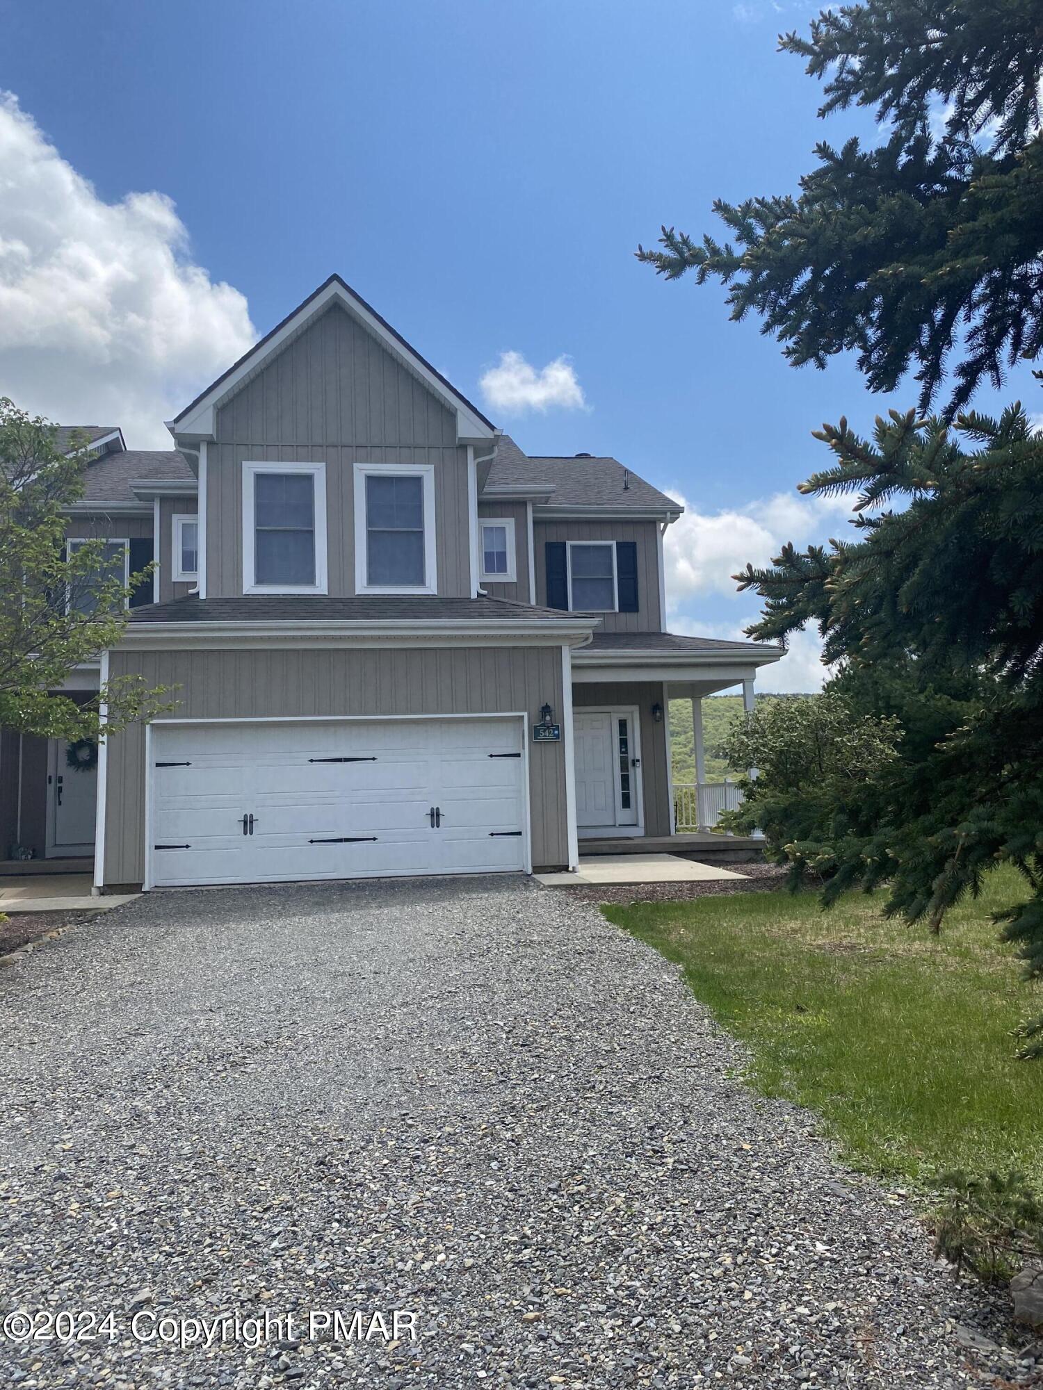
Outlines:
POLYGON ((880 917, 882 894, 780 892, 604 909, 684 967, 752 1051, 750 1081, 819 1111, 855 1166, 929 1184, 1019 1168, 1043 1184, 1043 1061, 1011 1030, 1043 1008, 989 913, 1022 895, 992 876, 940 937, 880 917))

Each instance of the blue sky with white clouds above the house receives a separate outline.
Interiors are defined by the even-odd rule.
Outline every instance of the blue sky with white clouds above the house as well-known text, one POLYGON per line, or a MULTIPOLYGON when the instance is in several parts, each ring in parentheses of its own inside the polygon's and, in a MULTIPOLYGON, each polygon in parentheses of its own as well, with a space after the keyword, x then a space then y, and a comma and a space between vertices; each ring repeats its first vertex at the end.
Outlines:
MULTIPOLYGON (((17 163, 24 215, 0 213, 0 293, 18 281, 22 324, 0 327, 0 389, 51 416, 97 400, 161 446, 147 421, 337 270, 480 402, 503 353, 537 381, 567 359, 562 403, 487 409, 530 453, 613 453, 683 493, 673 626, 733 631, 755 612, 726 580, 743 545, 843 525, 793 493, 823 461, 809 430, 841 413, 869 428, 886 402, 851 363, 794 371, 716 286, 659 282, 633 250, 662 221, 712 229, 716 196, 793 190, 816 139, 872 132, 864 113, 819 122, 818 85, 775 51, 814 8, 8 3, 0 89, 22 124, 0 183, 17 163), (68 195, 65 165, 93 195, 68 195), (97 289, 63 309, 83 265, 97 289), (107 313, 127 328, 99 346, 85 320, 107 313)), ((1030 391, 1025 373, 1004 395, 1030 391)), ((787 662, 779 684, 815 684, 812 644, 787 662)))

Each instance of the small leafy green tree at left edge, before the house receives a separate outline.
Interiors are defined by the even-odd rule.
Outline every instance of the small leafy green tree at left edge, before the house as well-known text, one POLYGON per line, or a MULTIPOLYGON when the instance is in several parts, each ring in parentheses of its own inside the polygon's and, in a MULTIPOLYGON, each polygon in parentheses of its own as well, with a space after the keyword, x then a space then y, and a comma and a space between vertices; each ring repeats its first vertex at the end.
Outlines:
POLYGON ((103 539, 67 548, 67 507, 83 495, 86 439, 65 456, 54 427, 0 399, 0 726, 40 737, 97 739, 170 709, 138 676, 107 681, 86 703, 58 694, 67 677, 115 646, 124 585, 103 539), (106 706, 104 730, 102 706, 106 706))

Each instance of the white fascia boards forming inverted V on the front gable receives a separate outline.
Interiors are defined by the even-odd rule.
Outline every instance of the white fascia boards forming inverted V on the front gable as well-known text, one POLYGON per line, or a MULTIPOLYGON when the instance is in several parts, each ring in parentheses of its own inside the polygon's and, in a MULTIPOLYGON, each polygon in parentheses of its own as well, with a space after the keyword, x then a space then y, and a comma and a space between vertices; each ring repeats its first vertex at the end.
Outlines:
POLYGON ((175 438, 184 435, 189 439, 213 441, 216 438, 214 427, 217 423, 216 411, 218 404, 223 404, 229 396, 232 396, 246 378, 252 377, 257 371, 260 364, 267 357, 282 348, 286 339, 296 336, 303 324, 321 314, 323 310, 334 302, 343 304, 348 313, 357 318, 359 322, 364 324, 369 332, 382 342, 394 357, 407 363, 409 370, 414 373, 449 410, 453 411, 456 416, 456 435, 459 442, 481 442, 495 438, 495 432, 491 425, 487 425, 484 420, 480 420, 471 410, 469 410, 459 396, 446 389, 444 382, 434 375, 430 367, 427 367, 417 356, 410 353, 407 348, 405 348, 398 338, 392 336, 384 324, 381 324, 357 299, 348 295, 345 289, 335 282, 332 285, 327 285, 321 295, 316 295, 314 299, 307 300, 299 313, 293 314, 292 318, 288 318, 280 331, 268 338, 263 348, 248 353, 235 371, 211 386, 210 391, 195 404, 189 414, 185 414, 178 420, 168 421, 167 428, 170 432, 175 435, 175 438))

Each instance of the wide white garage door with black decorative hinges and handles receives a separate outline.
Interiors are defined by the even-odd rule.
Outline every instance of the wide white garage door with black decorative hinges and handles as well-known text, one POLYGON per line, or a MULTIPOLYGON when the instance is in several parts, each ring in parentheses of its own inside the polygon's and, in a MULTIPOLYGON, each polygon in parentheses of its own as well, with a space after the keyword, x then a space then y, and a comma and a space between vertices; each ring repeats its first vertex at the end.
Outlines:
POLYGON ((517 719, 152 727, 152 883, 491 873, 526 860, 517 719))

